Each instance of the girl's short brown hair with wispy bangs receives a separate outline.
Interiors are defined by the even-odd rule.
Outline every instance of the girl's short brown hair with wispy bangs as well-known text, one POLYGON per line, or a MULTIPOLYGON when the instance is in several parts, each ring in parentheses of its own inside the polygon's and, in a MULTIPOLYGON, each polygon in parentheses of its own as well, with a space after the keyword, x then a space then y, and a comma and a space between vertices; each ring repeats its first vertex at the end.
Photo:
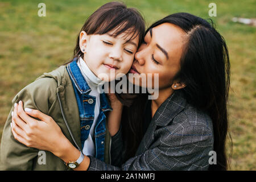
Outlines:
MULTIPOLYGON (((102 35, 112 30, 115 30, 112 34, 114 37, 125 33, 125 36, 129 36, 129 40, 131 40, 138 36, 140 44, 145 31, 144 19, 137 9, 127 8, 122 2, 109 2, 90 15, 81 28, 81 31, 85 31, 87 35, 102 35)), ((79 35, 77 37, 73 59, 84 56, 79 46, 79 35)))

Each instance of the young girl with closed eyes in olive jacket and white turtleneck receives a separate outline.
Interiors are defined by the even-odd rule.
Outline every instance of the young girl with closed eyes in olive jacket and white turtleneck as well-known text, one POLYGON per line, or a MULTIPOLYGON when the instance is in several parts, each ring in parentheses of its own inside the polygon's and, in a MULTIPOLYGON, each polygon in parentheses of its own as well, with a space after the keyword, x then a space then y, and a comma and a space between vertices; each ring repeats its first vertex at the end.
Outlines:
POLYGON ((79 149, 79 158, 64 164, 51 151, 38 151, 16 142, 11 135, 9 114, 2 134, 1 169, 76 168, 84 155, 108 163, 109 137, 105 114, 112 109, 106 95, 97 91, 97 86, 129 71, 143 35, 141 14, 123 3, 106 3, 90 15, 77 38, 73 60, 67 66, 44 73, 13 99, 13 103, 22 100, 24 107, 50 115, 65 137, 79 149), (104 77, 100 76, 102 73, 104 77))

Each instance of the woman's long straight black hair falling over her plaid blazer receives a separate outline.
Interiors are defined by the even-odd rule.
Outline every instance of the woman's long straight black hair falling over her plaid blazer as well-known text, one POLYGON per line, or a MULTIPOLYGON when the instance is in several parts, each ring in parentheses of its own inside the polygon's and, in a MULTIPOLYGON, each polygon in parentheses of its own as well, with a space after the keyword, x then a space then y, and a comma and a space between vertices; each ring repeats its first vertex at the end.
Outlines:
MULTIPOLYGON (((225 151, 228 134, 226 105, 230 85, 230 63, 225 40, 213 27, 212 22, 209 23, 207 20, 188 13, 166 16, 152 24, 147 31, 162 23, 175 24, 187 33, 183 56, 180 60, 180 71, 174 80, 178 79, 186 85, 181 90, 187 102, 208 113, 212 119, 213 150, 217 154, 217 164, 210 165, 209 169, 226 170, 228 167, 225 151)), ((144 99, 144 97, 140 98, 144 99)), ((129 125, 134 126, 132 130, 138 134, 141 134, 141 125, 138 122, 142 121, 140 117, 142 111, 139 107, 144 105, 143 101, 140 102, 141 104, 133 104, 133 107, 129 109, 129 113, 134 113, 135 119, 129 125)), ((141 141, 138 139, 133 140, 130 146, 138 146, 139 142, 141 141)), ((130 151, 129 155, 134 156, 135 151, 130 151)))

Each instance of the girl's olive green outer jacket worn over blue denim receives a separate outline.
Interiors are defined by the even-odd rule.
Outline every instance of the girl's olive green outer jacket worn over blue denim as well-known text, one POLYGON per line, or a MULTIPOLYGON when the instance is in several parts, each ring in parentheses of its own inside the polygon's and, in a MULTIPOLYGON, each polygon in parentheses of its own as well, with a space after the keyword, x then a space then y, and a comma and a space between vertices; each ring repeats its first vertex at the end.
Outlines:
MULTIPOLYGON (((51 116, 71 143, 81 150, 79 109, 65 66, 44 73, 20 90, 14 103, 23 101, 24 108, 38 109, 51 116)), ((14 106, 11 111, 13 111, 14 106)), ((30 148, 14 139, 11 132, 11 111, 1 139, 0 170, 68 170, 63 160, 51 152, 30 148)), ((46 134, 47 135, 47 134, 46 134)), ((105 163, 109 163, 110 135, 106 129, 105 163)))

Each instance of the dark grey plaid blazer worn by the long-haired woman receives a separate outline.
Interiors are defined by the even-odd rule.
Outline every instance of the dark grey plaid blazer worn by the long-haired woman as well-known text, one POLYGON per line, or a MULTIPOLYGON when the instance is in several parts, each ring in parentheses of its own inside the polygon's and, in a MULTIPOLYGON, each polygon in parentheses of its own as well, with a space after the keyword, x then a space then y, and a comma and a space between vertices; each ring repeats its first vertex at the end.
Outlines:
MULTIPOLYGON (((212 150, 212 120, 176 91, 156 111, 133 158, 117 167, 90 156, 88 170, 208 170, 212 150)), ((119 130, 112 137, 113 165, 121 153, 119 130)))

